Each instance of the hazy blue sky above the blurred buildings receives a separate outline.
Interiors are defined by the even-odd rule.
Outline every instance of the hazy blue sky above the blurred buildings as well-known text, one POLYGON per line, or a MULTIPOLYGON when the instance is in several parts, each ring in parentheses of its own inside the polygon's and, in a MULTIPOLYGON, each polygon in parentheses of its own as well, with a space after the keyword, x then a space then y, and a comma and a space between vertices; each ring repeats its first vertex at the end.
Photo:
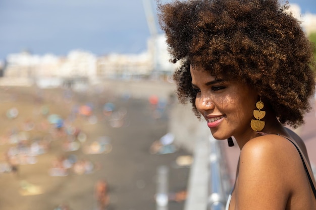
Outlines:
MULTIPOLYGON (((149 1, 155 13, 155 1, 149 1)), ((302 14, 316 14, 315 0, 289 2, 302 14)), ((0 0, 0 61, 22 50, 141 53, 149 37, 143 0, 0 0)))

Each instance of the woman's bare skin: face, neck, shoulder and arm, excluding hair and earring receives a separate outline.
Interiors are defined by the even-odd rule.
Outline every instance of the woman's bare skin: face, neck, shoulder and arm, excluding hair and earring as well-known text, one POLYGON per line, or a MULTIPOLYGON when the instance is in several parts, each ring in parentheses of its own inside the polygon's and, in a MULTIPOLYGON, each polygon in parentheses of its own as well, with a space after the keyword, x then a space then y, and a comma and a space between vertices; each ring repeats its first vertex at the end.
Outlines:
POLYGON ((213 136, 216 139, 234 136, 241 150, 229 209, 316 209, 299 153, 283 136, 300 147, 309 164, 300 137, 279 123, 267 103, 262 119, 266 125, 261 130, 267 134, 251 129, 253 110, 260 98, 254 88, 221 77, 216 79, 197 66, 190 66, 190 73, 197 110, 206 120, 218 120, 209 126, 213 136))

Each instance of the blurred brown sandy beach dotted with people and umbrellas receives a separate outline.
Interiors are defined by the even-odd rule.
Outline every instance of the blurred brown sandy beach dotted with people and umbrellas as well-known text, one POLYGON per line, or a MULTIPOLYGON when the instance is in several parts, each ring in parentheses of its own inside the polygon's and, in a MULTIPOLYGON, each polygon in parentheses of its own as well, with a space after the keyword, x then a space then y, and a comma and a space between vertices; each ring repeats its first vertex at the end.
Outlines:
MULTIPOLYGON (((186 189, 189 165, 177 161, 190 154, 151 150, 168 131, 166 106, 153 115, 146 97, 103 88, 2 87, 0 96, 1 209, 97 209, 98 180, 109 184, 108 209, 154 209, 161 165, 170 193, 186 189)), ((169 209, 183 204, 171 200, 169 209)))

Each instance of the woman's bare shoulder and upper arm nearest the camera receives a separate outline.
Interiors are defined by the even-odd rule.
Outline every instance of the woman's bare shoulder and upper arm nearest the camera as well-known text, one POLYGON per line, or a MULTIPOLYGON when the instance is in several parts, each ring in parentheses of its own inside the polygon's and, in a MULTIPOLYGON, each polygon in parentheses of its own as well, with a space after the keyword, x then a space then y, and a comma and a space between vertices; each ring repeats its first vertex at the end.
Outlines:
POLYGON ((259 136, 246 143, 240 153, 238 205, 285 209, 295 186, 296 156, 292 143, 279 135, 259 136))

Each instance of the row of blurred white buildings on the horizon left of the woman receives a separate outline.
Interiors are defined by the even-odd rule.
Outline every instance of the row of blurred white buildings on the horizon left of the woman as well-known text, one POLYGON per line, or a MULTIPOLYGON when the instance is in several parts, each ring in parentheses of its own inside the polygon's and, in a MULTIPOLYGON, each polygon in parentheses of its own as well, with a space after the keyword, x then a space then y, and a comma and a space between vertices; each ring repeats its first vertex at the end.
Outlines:
POLYGON ((39 56, 22 51, 7 56, 4 77, 58 86, 78 81, 93 83, 101 79, 149 78, 153 73, 171 75, 176 65, 169 62, 165 36, 151 37, 147 44, 148 50, 139 54, 111 53, 104 56, 83 50, 72 50, 65 57, 39 56))

